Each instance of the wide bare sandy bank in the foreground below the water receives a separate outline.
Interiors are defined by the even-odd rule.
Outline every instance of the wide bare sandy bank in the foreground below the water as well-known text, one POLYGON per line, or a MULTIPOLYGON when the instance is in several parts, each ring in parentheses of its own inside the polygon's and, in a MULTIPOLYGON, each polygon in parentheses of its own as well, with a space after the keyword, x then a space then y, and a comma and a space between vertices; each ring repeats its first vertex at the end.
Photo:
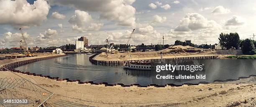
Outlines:
MULTIPOLYGON (((176 100, 187 107, 234 107, 234 105, 256 106, 256 77, 233 82, 200 85, 184 85, 181 87, 139 88, 137 86, 121 87, 77 82, 56 81, 49 78, 16 73, 23 78, 36 80, 41 87, 54 92, 54 97, 69 96, 82 100, 105 103, 141 103, 176 100), (211 90, 210 90, 211 89, 211 90)), ((0 78, 13 77, 13 73, 1 71, 0 78)))

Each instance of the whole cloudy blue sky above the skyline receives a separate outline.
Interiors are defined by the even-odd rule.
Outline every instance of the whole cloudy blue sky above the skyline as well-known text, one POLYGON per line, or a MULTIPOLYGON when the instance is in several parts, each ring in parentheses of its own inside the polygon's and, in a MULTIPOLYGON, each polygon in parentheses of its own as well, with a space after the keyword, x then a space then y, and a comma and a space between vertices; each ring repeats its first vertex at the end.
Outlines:
POLYGON ((218 43, 220 33, 256 34, 256 0, 0 0, 0 47, 218 43))

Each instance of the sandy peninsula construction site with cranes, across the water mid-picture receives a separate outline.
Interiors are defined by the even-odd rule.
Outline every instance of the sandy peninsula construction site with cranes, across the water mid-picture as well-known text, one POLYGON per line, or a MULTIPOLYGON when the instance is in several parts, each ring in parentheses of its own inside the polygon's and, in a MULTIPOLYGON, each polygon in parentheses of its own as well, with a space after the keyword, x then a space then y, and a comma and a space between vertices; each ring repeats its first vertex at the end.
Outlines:
MULTIPOLYGON (((134 32, 135 29, 133 29, 134 32)), ((133 36, 133 32, 128 38, 126 45, 128 46, 129 41, 133 36)), ((115 49, 113 45, 109 44, 108 39, 106 39, 106 48, 101 48, 100 50, 105 51, 105 53, 100 53, 93 58, 99 61, 128 61, 128 60, 149 60, 160 58, 160 53, 163 53, 164 58, 179 58, 179 57, 193 57, 193 56, 210 56, 217 55, 219 58, 225 58, 229 55, 241 55, 243 54, 241 50, 231 49, 231 50, 216 50, 216 49, 202 49, 195 48, 192 46, 182 46, 174 45, 169 46, 165 49, 155 51, 155 48, 137 48, 136 46, 128 46, 126 49, 115 49)), ((164 43, 164 36, 163 36, 164 43)), ((164 46, 161 45, 161 46, 164 46)))

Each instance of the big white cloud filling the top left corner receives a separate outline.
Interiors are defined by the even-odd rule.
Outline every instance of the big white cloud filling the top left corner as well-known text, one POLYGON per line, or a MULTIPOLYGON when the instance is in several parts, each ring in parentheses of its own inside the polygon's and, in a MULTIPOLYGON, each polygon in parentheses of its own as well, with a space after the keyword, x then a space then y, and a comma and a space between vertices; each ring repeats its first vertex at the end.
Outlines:
POLYGON ((45 0, 30 5, 26 0, 0 0, 0 24, 15 28, 40 26, 47 19, 50 6, 45 0))

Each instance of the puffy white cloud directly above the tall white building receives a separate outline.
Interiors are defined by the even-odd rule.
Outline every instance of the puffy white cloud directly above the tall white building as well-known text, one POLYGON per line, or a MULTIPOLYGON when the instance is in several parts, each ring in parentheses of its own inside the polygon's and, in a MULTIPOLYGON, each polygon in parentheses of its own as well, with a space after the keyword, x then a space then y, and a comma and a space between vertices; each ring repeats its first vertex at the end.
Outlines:
POLYGON ((92 22, 92 16, 81 10, 75 10, 74 15, 69 19, 69 23, 72 24, 72 29, 74 31, 97 31, 103 26, 102 23, 92 22))

